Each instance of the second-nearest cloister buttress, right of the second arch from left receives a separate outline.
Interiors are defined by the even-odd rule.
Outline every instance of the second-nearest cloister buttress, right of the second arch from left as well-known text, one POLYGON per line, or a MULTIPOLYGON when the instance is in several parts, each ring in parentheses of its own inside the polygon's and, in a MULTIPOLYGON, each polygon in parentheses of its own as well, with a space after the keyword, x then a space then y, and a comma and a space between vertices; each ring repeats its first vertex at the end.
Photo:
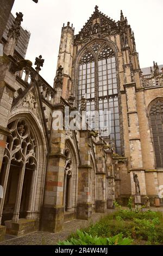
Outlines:
POLYGON ((77 218, 88 219, 91 217, 91 160, 89 141, 89 132, 80 130, 80 160, 81 165, 78 168, 78 203, 77 203, 77 218))

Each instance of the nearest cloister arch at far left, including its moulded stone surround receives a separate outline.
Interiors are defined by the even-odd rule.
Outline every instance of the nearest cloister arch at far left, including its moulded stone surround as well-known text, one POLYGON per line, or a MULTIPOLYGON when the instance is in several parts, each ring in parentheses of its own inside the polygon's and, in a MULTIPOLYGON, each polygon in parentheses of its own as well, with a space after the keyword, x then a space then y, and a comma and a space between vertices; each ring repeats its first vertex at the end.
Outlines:
POLYGON ((8 123, 11 134, 7 138, 1 169, 4 198, 0 202, 0 216, 9 211, 12 203, 11 214, 6 217, 16 222, 19 217, 40 218, 47 147, 42 127, 32 114, 12 114, 8 123))

